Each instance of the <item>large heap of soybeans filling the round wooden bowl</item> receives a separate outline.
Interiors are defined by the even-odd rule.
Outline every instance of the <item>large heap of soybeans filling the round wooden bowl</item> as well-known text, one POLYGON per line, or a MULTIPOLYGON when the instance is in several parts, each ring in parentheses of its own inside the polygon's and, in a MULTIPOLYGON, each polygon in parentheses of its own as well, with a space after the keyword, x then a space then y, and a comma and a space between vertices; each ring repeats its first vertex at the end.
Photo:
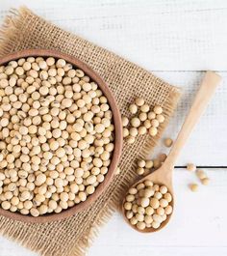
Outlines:
POLYGON ((53 57, 0 67, 0 205, 38 216, 86 201, 109 170, 113 112, 82 70, 53 57))

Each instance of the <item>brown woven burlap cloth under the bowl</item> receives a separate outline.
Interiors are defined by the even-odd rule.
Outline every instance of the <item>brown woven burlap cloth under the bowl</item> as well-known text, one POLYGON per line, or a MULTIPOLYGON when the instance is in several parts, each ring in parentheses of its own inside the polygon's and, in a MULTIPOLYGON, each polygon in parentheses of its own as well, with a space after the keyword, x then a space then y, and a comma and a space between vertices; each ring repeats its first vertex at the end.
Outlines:
POLYGON ((87 211, 46 224, 0 217, 1 234, 41 255, 85 255, 100 225, 114 213, 128 185, 137 179, 135 161, 139 156, 145 157, 157 143, 174 111, 179 90, 113 52, 65 32, 23 8, 6 18, 0 34, 0 56, 26 48, 57 49, 87 63, 109 84, 124 115, 128 115, 128 104, 139 96, 151 105, 159 104, 164 108, 165 122, 158 135, 155 138, 144 135, 133 145, 124 144, 121 173, 87 211))

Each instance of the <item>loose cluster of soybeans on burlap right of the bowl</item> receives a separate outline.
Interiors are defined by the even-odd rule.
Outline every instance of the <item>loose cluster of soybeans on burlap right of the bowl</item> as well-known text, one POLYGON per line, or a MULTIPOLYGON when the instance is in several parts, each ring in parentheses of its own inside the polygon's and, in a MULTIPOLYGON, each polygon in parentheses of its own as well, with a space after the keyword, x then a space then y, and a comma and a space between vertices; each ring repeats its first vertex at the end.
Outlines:
POLYGON ((147 132, 155 136, 160 124, 164 123, 163 108, 156 105, 152 109, 142 98, 137 98, 135 103, 129 105, 129 112, 130 120, 122 116, 123 136, 129 144, 133 144, 138 135, 147 132))

